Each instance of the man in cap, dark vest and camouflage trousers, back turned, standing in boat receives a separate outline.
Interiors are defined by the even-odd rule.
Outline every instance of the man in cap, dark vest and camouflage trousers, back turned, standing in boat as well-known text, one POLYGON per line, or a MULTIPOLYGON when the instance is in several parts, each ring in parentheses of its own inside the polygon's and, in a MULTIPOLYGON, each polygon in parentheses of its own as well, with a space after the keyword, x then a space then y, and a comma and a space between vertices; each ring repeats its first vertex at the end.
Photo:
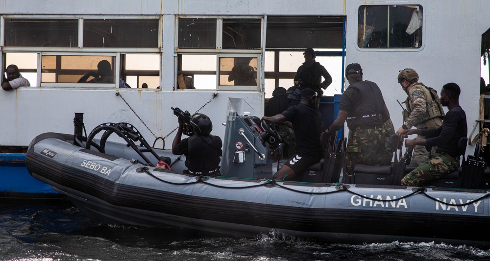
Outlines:
POLYGON ((390 134, 390 113, 379 87, 371 81, 363 81, 359 64, 349 64, 345 69, 349 87, 342 94, 337 119, 325 133, 335 133, 347 121, 349 136, 345 152, 347 172, 352 173, 356 164, 386 166, 391 164, 392 152, 386 142, 390 134))

